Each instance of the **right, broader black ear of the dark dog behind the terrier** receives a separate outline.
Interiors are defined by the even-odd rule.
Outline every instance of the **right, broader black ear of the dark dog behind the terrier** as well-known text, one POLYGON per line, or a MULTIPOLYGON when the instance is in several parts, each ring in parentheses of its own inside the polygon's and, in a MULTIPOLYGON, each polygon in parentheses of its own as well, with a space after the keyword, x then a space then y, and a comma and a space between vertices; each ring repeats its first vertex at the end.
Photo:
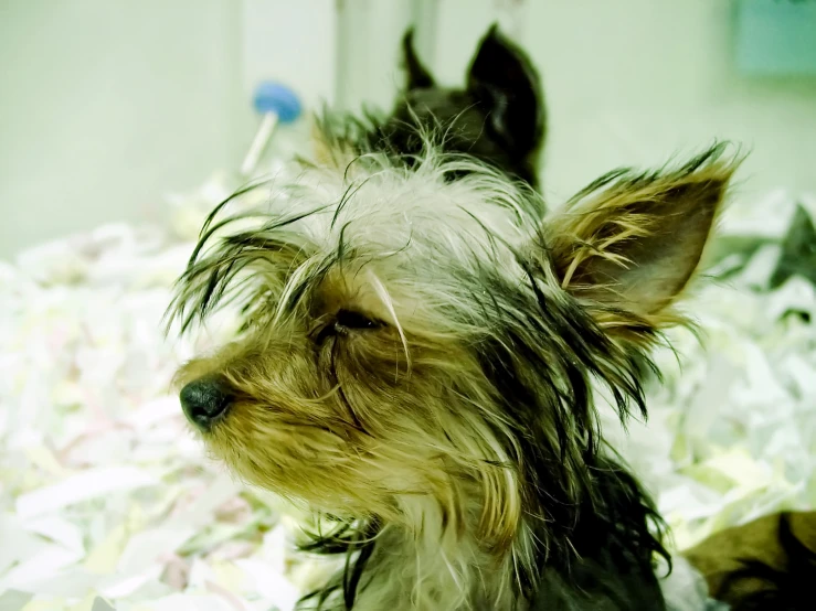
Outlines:
POLYGON ((544 138, 544 106, 538 72, 521 49, 490 28, 476 52, 467 90, 488 114, 488 127, 519 157, 544 138))

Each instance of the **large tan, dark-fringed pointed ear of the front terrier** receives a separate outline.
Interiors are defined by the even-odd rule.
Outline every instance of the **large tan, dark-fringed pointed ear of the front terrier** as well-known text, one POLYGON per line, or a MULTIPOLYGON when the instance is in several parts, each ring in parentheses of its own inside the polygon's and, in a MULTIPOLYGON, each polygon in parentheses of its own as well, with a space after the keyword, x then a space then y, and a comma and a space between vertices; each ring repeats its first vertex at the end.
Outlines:
POLYGON ((674 170, 611 172, 548 219, 564 290, 623 333, 678 322, 671 306, 695 274, 741 161, 718 144, 674 170))

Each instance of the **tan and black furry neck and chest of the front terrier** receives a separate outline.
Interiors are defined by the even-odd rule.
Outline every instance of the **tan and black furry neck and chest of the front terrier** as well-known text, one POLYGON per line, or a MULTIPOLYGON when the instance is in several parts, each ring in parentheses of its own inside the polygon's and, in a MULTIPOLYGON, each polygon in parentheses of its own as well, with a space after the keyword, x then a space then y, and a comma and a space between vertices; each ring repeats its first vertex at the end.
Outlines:
POLYGON ((665 609, 651 566, 656 540, 646 530, 649 506, 614 462, 598 468, 600 496, 575 508, 566 532, 533 517, 540 508, 522 507, 511 536, 498 545, 485 534, 488 495, 473 480, 459 480, 468 490, 457 497, 467 505, 453 512, 431 495, 401 496, 399 518, 383 519, 362 551, 350 548, 330 587, 337 602, 325 609, 347 608, 343 589, 353 574, 356 611, 665 609), (356 561, 358 555, 364 561, 356 561))

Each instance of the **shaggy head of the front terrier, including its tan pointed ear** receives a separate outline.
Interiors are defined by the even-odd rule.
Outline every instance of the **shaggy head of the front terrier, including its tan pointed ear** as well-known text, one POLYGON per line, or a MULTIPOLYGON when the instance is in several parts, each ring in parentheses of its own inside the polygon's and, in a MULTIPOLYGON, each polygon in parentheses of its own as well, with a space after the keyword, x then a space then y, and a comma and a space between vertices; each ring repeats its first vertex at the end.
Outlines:
POLYGON ((547 519, 591 487, 591 379, 640 400, 630 347, 675 320, 721 153, 612 173, 543 225, 531 190, 433 150, 258 187, 254 215, 213 213, 179 281, 184 328, 226 302, 245 320, 182 368, 184 410, 254 484, 413 527, 433 506, 507 543, 531 503, 547 519))

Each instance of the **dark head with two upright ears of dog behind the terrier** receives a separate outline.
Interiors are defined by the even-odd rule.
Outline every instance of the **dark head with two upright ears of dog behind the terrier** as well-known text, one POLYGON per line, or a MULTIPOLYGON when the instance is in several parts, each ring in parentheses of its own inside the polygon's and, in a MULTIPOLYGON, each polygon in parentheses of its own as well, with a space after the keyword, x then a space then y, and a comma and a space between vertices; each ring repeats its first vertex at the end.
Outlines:
POLYGON ((536 185, 544 140, 545 109, 539 75, 530 60, 496 26, 479 43, 464 88, 436 84, 403 40, 406 86, 377 136, 401 154, 422 152, 424 131, 441 131, 448 152, 467 153, 510 176, 536 185))

